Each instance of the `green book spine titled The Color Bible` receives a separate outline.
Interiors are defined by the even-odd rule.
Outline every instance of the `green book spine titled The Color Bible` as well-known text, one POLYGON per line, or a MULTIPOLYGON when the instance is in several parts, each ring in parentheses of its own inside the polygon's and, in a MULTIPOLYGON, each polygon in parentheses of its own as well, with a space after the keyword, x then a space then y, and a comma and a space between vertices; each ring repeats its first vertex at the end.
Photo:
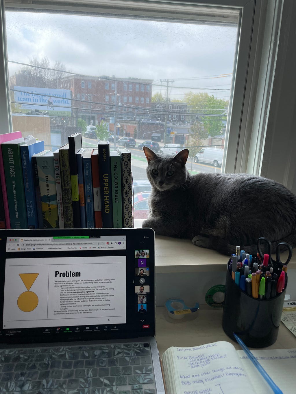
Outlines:
POLYGON ((121 161, 116 151, 110 152, 111 182, 112 182, 112 209, 113 227, 122 227, 122 187, 121 187, 121 161))

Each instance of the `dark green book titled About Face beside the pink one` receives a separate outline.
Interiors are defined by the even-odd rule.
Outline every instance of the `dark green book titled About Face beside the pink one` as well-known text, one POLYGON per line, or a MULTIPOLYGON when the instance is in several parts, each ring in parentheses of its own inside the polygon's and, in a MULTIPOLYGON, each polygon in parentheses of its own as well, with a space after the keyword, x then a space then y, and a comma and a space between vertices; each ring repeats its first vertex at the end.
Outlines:
MULTIPOLYGON (((19 141, 19 139, 14 141, 19 141)), ((12 229, 28 228, 20 152, 22 143, 24 143, 23 138, 19 142, 2 143, 9 218, 12 229)))

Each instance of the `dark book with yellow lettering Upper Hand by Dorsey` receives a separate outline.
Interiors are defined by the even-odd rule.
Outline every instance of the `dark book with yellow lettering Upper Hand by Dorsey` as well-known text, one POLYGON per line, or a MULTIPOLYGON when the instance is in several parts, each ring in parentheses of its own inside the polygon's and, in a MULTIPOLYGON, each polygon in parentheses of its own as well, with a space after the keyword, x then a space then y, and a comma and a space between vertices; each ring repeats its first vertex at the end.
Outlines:
POLYGON ((99 177, 101 186, 101 204, 103 227, 113 227, 112 184, 109 141, 99 141, 99 177))

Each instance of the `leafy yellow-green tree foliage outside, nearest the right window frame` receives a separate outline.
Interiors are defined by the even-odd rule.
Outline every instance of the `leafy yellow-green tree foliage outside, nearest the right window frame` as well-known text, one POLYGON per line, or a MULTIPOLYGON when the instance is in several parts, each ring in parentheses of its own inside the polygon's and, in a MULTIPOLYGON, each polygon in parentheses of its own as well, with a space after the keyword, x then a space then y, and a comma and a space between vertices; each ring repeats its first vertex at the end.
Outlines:
POLYGON ((191 106, 190 112, 200 114, 197 115, 197 120, 204 126, 204 132, 207 133, 205 138, 222 134, 223 121, 227 119, 228 101, 216 99, 213 95, 208 95, 208 93, 193 92, 185 93, 184 101, 191 106))

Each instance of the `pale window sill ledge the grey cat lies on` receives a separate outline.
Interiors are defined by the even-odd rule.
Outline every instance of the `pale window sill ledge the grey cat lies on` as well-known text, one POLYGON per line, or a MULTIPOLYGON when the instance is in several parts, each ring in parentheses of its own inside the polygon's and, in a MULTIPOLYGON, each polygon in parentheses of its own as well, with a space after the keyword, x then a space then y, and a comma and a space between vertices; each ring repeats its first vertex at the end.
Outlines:
MULTIPOLYGON (((142 220, 135 219, 134 226, 142 227, 142 220)), ((227 256, 195 246, 191 240, 155 234, 155 273, 225 272, 227 261, 227 256)), ((296 248, 289 269, 296 269, 296 248)))

